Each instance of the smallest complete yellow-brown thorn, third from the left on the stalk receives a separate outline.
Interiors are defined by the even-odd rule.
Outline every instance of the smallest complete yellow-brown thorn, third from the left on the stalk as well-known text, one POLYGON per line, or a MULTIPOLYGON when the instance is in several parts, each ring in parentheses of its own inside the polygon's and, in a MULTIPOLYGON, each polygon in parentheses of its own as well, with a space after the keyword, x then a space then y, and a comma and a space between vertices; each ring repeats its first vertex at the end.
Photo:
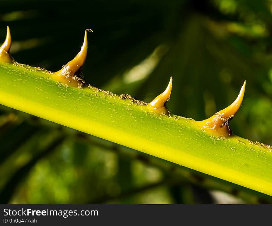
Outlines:
POLYGON ((166 114, 169 115, 168 108, 165 106, 165 103, 170 99, 172 91, 172 77, 168 83, 167 88, 163 93, 159 94, 154 100, 148 104, 148 110, 155 112, 159 115, 166 114))

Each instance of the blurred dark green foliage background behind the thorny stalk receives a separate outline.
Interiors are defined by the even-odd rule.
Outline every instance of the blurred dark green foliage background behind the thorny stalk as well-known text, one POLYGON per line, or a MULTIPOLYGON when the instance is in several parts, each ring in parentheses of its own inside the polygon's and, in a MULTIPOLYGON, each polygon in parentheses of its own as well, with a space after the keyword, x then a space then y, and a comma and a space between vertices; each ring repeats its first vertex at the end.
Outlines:
MULTIPOLYGON (((93 86, 203 120, 247 80, 233 133, 272 145, 272 1, 0 1, 19 63, 59 70, 79 52, 93 86)), ((1 41, 1 42, 2 42, 1 41)), ((90 109, 91 111, 91 109, 90 109)), ((0 106, 0 203, 272 203, 272 197, 0 106)))

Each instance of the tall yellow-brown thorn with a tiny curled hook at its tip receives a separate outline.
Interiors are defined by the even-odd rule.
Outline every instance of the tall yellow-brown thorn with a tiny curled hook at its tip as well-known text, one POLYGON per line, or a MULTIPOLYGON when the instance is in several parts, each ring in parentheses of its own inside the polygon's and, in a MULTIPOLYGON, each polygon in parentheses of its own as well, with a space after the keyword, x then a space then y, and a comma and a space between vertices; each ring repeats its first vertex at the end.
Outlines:
POLYGON ((91 29, 85 30, 83 45, 75 58, 63 65, 61 70, 54 72, 53 77, 56 80, 75 87, 82 87, 85 85, 85 81, 81 78, 80 72, 87 57, 87 31, 92 32, 91 29))

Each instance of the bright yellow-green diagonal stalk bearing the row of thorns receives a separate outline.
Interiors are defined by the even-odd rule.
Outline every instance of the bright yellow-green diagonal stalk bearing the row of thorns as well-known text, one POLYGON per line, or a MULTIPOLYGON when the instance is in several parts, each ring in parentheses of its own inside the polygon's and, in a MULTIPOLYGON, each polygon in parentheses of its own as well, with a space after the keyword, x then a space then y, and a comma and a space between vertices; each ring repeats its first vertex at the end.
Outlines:
POLYGON ((44 71, 0 64, 0 103, 272 195, 271 147, 203 132, 129 99, 57 83, 44 71))

